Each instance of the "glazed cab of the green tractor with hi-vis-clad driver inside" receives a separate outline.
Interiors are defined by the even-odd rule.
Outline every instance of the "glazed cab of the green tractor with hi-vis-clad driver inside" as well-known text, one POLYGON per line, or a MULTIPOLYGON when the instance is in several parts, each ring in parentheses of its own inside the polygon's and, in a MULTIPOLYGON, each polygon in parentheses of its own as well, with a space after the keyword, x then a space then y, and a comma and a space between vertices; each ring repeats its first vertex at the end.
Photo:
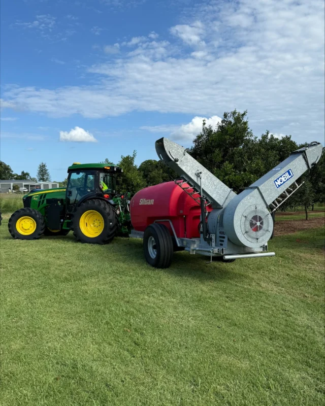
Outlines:
POLYGON ((66 212, 73 213, 89 198, 112 200, 116 195, 116 177, 122 169, 114 164, 75 162, 68 168, 66 212))

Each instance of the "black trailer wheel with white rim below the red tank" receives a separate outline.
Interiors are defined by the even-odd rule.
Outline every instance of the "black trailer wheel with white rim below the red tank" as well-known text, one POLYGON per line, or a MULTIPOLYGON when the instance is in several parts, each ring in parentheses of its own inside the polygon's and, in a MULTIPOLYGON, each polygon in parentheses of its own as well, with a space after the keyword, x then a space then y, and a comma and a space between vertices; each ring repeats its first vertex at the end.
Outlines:
POLYGON ((169 268, 173 259, 173 240, 164 224, 149 225, 143 236, 146 261, 155 268, 169 268))

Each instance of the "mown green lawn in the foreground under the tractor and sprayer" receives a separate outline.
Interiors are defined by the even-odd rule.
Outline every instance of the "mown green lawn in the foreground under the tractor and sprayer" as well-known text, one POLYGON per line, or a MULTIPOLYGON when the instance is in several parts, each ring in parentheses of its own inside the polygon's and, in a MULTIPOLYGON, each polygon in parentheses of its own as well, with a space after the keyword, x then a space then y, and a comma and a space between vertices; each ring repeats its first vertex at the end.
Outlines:
POLYGON ((7 220, 2 406, 324 404, 322 229, 274 238, 271 258, 157 270, 140 240, 17 241, 7 220))

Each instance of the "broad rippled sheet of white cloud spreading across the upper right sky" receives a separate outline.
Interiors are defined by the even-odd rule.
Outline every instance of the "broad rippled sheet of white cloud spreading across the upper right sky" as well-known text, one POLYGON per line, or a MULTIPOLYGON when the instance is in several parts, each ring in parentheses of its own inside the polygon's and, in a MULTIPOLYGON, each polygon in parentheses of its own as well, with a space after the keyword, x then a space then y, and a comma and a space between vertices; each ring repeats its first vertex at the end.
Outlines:
POLYGON ((183 17, 187 24, 172 28, 193 54, 168 41, 131 40, 126 55, 94 61, 88 85, 15 86, 3 97, 7 107, 54 117, 132 111, 211 117, 248 109, 256 135, 272 128, 299 142, 323 142, 323 11, 322 0, 200 3, 192 19, 183 17))

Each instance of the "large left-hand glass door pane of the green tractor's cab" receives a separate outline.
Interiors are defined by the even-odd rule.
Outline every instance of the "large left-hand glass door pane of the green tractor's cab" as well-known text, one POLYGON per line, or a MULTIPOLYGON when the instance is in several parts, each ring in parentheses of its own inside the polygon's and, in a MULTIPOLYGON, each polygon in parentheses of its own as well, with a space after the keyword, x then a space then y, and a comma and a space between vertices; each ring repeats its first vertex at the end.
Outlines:
POLYGON ((95 190, 95 175, 91 172, 73 172, 70 176, 67 195, 69 204, 76 204, 83 196, 95 190))

